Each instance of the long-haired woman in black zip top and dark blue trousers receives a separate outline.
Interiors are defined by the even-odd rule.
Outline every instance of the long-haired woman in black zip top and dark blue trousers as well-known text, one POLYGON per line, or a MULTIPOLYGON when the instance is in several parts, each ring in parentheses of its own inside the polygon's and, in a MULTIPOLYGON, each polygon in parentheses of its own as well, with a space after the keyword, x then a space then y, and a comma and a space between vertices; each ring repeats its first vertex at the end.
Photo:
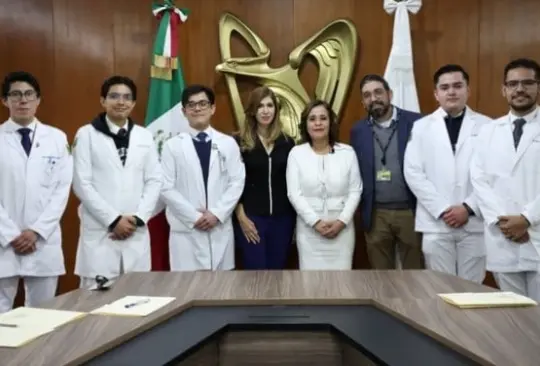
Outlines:
POLYGON ((236 208, 235 238, 244 269, 283 269, 296 213, 287 198, 287 159, 294 140, 282 131, 279 104, 267 87, 251 92, 245 123, 236 136, 246 168, 236 208))

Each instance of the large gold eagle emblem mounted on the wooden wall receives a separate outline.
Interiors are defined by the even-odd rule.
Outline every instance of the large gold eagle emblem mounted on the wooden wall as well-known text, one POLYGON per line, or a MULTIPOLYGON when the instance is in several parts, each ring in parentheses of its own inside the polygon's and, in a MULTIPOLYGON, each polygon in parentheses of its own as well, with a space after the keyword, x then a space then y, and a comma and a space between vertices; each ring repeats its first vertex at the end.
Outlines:
POLYGON ((258 85, 268 86, 280 103, 280 119, 286 133, 299 138, 300 114, 310 97, 300 81, 300 67, 306 56, 315 58, 319 78, 315 98, 330 104, 337 116, 341 115, 348 94, 357 59, 357 33, 354 24, 345 19, 335 20, 289 54, 288 62, 277 68, 268 65, 270 49, 264 41, 231 13, 219 21, 219 46, 222 63, 216 71, 223 73, 238 127, 244 123, 244 107, 236 81, 237 76, 248 77, 258 85), (233 57, 231 37, 238 33, 254 52, 253 57, 233 57))

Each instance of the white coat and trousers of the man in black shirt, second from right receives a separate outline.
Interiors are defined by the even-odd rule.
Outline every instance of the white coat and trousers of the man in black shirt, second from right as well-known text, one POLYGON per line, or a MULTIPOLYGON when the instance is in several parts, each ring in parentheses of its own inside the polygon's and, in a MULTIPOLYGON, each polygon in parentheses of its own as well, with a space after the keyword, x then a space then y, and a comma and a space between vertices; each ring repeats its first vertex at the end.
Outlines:
POLYGON ((404 175, 417 197, 415 229, 424 233, 426 266, 481 282, 485 274, 483 223, 470 181, 470 162, 482 125, 491 119, 468 108, 452 151, 442 108, 415 122, 405 150, 404 175), (440 218, 465 202, 475 212, 459 229, 440 218))

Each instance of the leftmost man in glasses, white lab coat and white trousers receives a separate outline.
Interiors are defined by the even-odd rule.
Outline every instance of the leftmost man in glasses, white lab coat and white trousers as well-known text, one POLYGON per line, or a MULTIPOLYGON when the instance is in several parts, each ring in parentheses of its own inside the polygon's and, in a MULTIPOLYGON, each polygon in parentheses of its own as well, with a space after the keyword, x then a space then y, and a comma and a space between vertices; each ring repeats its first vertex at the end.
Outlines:
POLYGON ((41 91, 29 73, 2 84, 10 118, 0 125, 0 313, 13 307, 19 279, 25 305, 56 294, 65 273, 60 219, 73 165, 66 134, 36 117, 41 91))

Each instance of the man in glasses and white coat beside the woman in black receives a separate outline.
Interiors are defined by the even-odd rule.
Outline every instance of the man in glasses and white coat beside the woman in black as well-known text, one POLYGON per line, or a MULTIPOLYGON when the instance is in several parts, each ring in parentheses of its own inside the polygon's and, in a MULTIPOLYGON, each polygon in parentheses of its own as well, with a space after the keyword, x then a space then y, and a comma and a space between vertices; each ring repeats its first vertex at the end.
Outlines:
POLYGON ((169 139, 161 155, 161 193, 171 227, 171 271, 234 268, 232 213, 245 168, 235 140, 210 126, 214 92, 193 85, 182 93, 189 132, 169 139))

